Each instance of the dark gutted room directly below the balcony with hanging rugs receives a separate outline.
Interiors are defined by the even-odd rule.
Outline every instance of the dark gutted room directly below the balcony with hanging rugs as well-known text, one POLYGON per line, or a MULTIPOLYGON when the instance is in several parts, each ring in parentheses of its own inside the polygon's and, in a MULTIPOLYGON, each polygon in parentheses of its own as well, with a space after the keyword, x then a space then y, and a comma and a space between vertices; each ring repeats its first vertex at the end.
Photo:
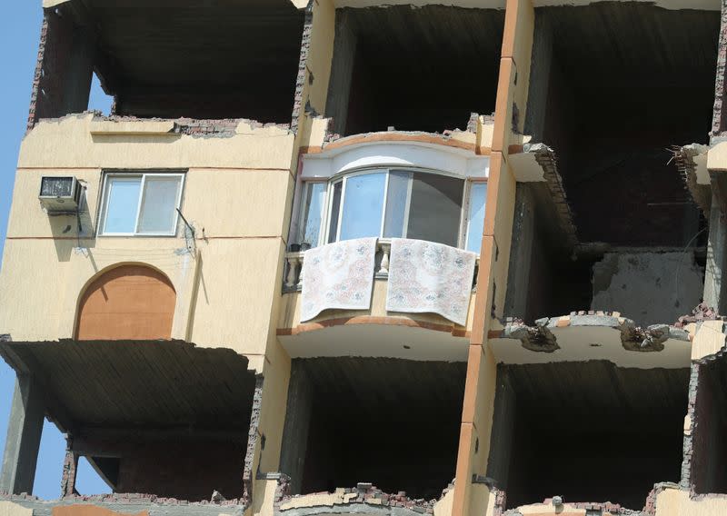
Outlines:
POLYGON ((294 493, 368 481, 439 498, 454 478, 464 362, 295 359, 281 470, 294 493))

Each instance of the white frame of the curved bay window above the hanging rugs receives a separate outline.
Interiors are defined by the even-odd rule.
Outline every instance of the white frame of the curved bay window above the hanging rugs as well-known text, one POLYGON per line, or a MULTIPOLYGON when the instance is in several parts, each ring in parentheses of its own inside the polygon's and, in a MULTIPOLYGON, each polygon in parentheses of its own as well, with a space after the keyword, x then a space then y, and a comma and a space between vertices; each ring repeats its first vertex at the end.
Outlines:
MULTIPOLYGON (((435 175, 443 175, 447 177, 453 177, 455 179, 460 179, 463 181, 463 202, 462 207, 460 209, 460 223, 458 225, 458 234, 457 234, 457 247, 460 249, 466 249, 466 244, 469 239, 469 207, 470 207, 470 195, 472 191, 472 185, 473 183, 487 183, 487 180, 480 180, 478 178, 477 181, 473 181, 472 178, 469 177, 462 177, 459 174, 448 174, 446 172, 442 171, 434 171, 434 170, 424 170, 420 168, 415 167, 371 167, 371 168, 364 168, 364 169, 358 169, 353 172, 347 172, 344 174, 336 174, 333 178, 331 178, 327 184, 326 193, 325 193, 325 201, 324 201, 324 213, 321 214, 321 228, 318 232, 318 242, 317 243, 311 243, 311 245, 319 246, 324 245, 325 243, 328 243, 328 240, 331 236, 331 227, 330 227, 330 221, 331 217, 333 216, 333 203, 334 203, 334 188, 336 184, 341 184, 341 202, 338 206, 338 223, 335 228, 335 238, 333 242, 338 242, 338 239, 341 236, 341 224, 343 223, 343 210, 344 210, 344 203, 345 203, 345 192, 346 192, 346 182, 349 177, 354 177, 356 175, 364 175, 364 174, 376 174, 376 173, 383 173, 386 174, 386 183, 384 184, 383 188, 383 209, 382 209, 382 221, 381 221, 381 227, 379 229, 379 235, 378 238, 384 238, 383 236, 383 228, 384 224, 386 222, 386 196, 388 194, 389 190, 389 175, 393 172, 405 172, 405 173, 412 173, 412 174, 435 174, 435 175)), ((314 179, 311 181, 304 181, 302 183, 303 188, 301 189, 302 194, 302 206, 300 209, 300 212, 298 213, 298 221, 299 224, 302 224, 305 220, 306 213, 304 213, 305 206, 304 206, 304 196, 307 194, 309 184, 314 183, 322 183, 320 179, 314 179)), ((408 227, 408 221, 409 221, 409 211, 412 201, 412 184, 413 181, 408 182, 407 187, 407 193, 406 193, 406 206, 404 208, 404 220, 403 220, 403 234, 402 238, 406 238, 407 234, 407 227, 408 227)), ((302 239, 302 230, 298 232, 298 235, 296 235, 296 239, 300 240, 302 239)))

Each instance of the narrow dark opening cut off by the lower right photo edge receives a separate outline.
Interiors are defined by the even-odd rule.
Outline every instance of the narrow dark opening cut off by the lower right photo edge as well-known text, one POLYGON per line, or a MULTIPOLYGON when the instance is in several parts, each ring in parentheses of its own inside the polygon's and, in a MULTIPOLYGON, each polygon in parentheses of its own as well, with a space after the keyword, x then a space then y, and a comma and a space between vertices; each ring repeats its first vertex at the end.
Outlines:
POLYGON ((694 491, 727 493, 727 359, 700 364, 694 405, 692 485, 694 491))

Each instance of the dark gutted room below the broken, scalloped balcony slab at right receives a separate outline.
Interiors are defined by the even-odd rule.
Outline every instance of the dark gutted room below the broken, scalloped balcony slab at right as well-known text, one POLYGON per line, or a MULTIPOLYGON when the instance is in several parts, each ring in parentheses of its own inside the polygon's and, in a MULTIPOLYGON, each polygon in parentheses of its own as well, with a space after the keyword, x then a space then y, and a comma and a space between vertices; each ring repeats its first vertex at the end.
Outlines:
POLYGON ((688 369, 501 364, 487 475, 508 508, 562 495, 639 509, 680 480, 688 383, 688 369))

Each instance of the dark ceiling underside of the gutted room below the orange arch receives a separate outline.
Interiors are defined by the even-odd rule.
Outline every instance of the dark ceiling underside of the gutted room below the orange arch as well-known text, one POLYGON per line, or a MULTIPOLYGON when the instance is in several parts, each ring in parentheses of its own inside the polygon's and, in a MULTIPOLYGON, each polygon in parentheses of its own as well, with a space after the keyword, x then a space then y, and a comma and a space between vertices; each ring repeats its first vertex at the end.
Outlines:
POLYGON ((2 342, 0 355, 41 383, 46 412, 64 431, 243 429, 254 373, 231 349, 185 342, 2 342))

